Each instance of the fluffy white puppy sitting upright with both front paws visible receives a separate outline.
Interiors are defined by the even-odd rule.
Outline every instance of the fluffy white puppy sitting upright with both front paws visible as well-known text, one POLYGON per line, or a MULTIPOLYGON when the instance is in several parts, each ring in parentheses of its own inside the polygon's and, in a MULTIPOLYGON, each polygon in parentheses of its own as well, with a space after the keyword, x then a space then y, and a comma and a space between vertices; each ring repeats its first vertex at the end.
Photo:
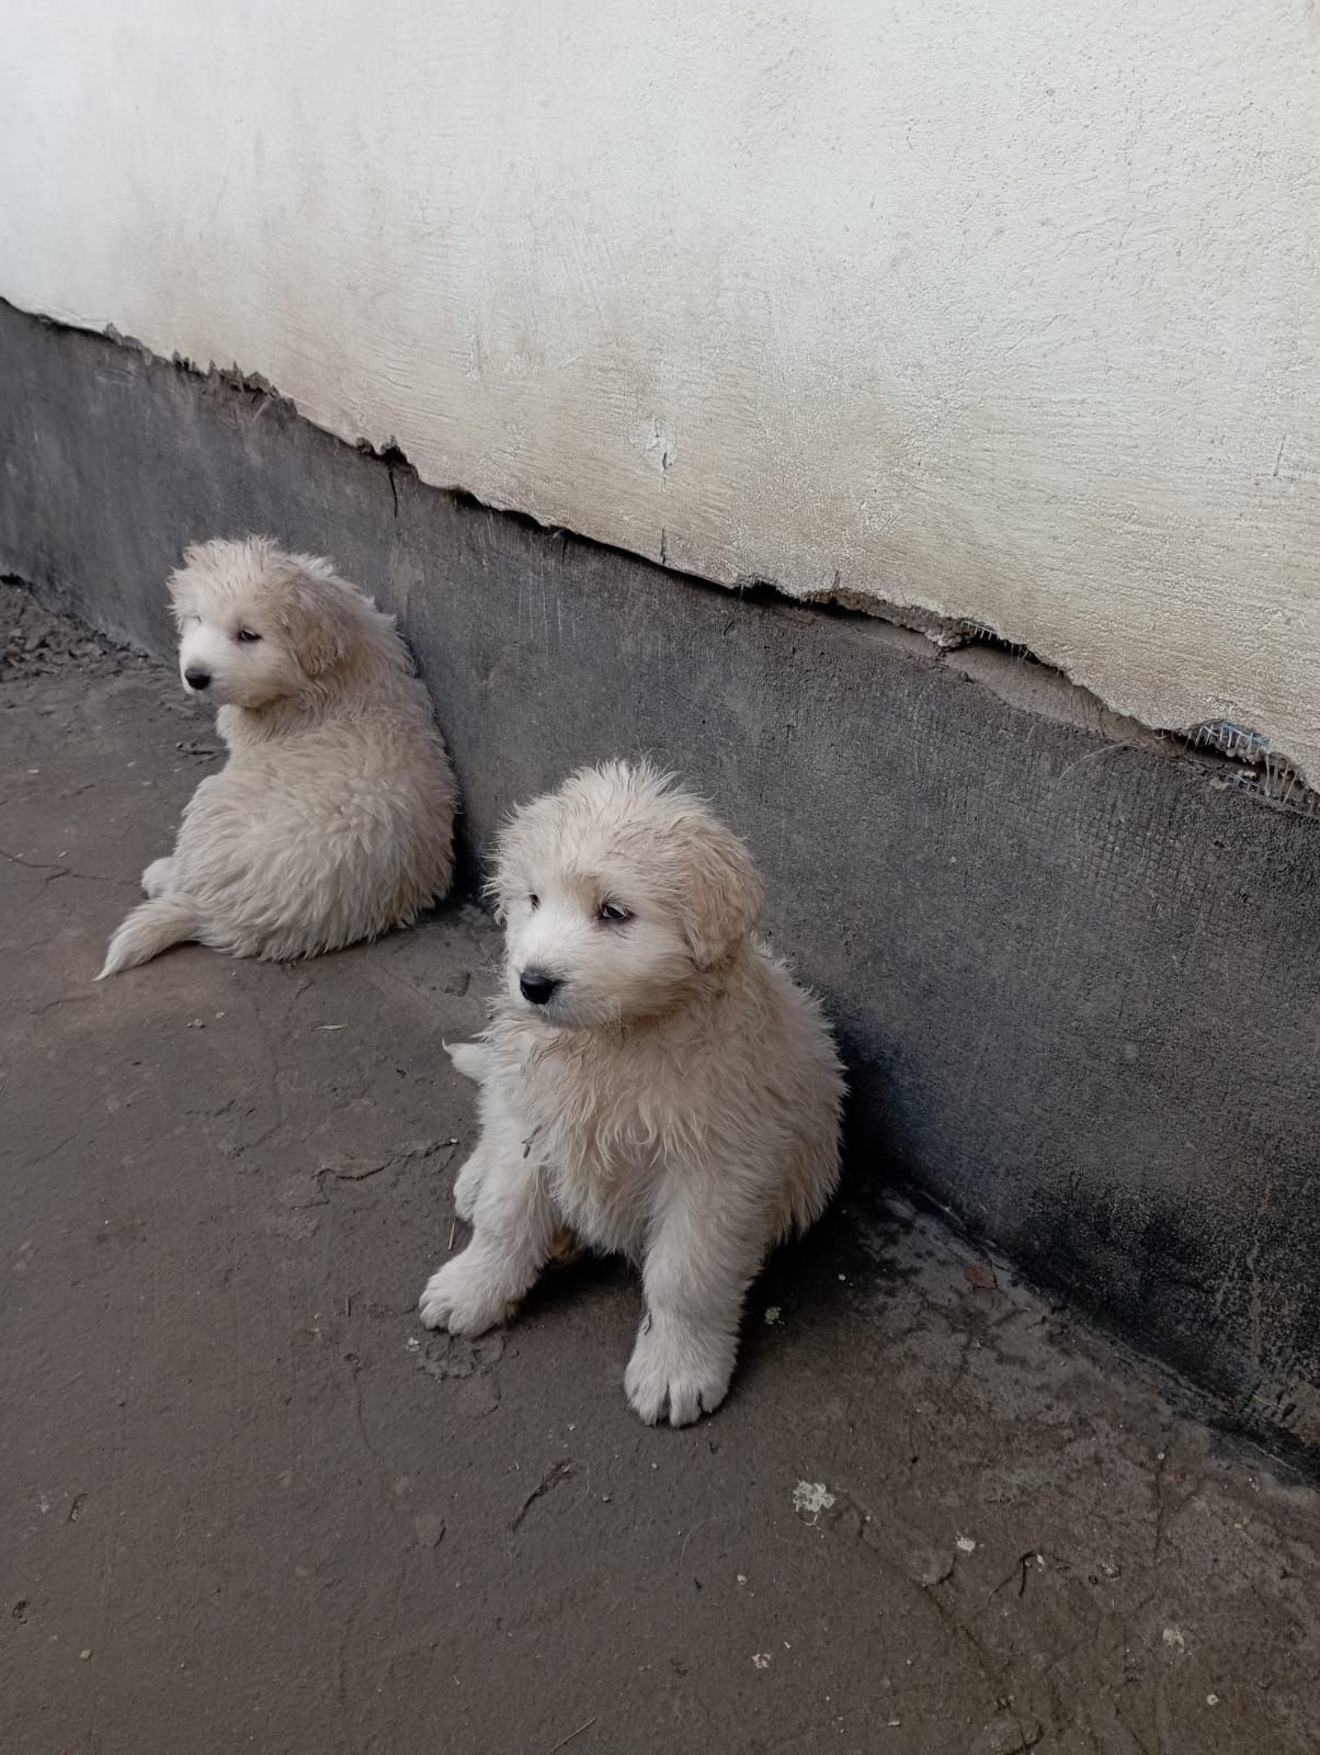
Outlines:
POLYGON ((513 1314, 565 1227, 641 1262, 623 1385, 648 1423, 718 1408, 746 1290, 839 1174, 843 1076, 814 999, 755 939, 748 849, 649 767, 574 774, 521 809, 491 885, 506 986, 479 1044, 472 1241, 427 1285, 430 1329, 513 1314))

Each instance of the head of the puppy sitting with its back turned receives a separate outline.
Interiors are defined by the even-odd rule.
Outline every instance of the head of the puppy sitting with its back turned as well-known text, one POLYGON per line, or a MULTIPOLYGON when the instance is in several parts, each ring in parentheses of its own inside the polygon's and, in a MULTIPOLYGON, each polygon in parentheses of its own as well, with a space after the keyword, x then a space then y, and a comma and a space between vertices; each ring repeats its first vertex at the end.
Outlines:
POLYGON ((367 607, 328 562, 265 537, 190 548, 169 590, 183 684, 221 707, 269 707, 323 684, 367 607))

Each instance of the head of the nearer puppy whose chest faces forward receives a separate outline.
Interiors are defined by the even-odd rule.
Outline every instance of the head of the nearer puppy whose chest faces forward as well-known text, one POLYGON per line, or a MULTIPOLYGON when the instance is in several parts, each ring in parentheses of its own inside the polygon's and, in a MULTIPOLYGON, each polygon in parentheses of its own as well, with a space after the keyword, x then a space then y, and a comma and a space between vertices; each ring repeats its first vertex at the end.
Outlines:
POLYGON ((751 855, 672 776, 611 762, 525 806, 491 893, 511 1004, 609 1028, 660 1016, 757 925, 751 855))

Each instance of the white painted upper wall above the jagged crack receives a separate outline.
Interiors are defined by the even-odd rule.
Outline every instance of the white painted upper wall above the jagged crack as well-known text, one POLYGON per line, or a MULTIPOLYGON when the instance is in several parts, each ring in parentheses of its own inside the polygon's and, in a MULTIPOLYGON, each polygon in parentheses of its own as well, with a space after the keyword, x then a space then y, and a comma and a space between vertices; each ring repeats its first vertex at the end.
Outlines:
POLYGON ((0 0, 0 293, 1320 781, 1313 0, 0 0))

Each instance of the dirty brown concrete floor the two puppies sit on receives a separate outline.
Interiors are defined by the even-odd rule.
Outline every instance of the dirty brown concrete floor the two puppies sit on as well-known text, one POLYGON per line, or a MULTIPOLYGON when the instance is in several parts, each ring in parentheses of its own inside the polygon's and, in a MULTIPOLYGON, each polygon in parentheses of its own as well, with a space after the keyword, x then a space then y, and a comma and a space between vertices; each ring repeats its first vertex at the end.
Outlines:
POLYGON ((5 1755, 1320 1748, 1316 1492, 899 1204, 685 1432, 611 1264, 425 1334, 488 923, 93 986, 216 742, 2 609, 5 1755))

